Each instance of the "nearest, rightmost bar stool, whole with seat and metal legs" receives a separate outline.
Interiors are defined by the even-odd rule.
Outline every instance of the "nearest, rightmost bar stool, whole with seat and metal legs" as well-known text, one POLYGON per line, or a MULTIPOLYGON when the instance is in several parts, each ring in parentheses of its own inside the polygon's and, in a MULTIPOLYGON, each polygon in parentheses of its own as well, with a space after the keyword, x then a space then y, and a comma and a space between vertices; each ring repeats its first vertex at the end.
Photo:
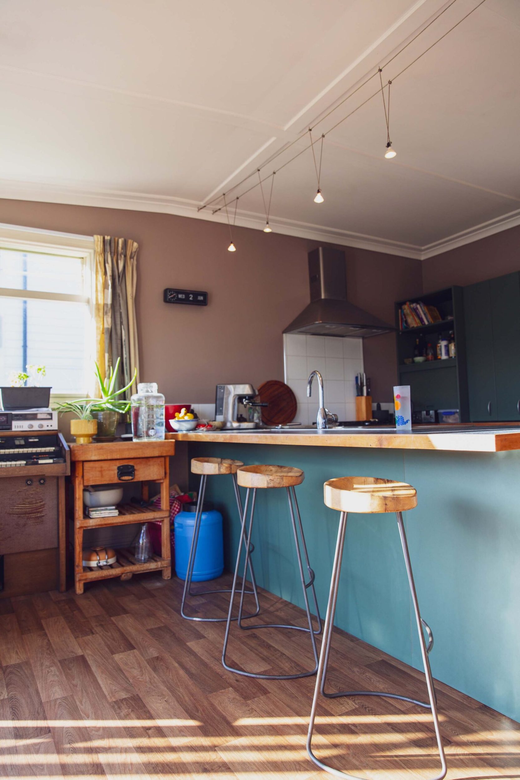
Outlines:
POLYGON ((324 502, 328 507, 330 507, 330 509, 337 509, 338 512, 341 512, 341 515, 339 519, 338 541, 336 544, 334 564, 332 567, 331 591, 327 605, 327 616, 325 618, 324 639, 320 652, 320 665, 318 667, 316 687, 314 689, 313 707, 310 714, 309 733, 307 735, 307 753, 309 753, 310 759, 314 762, 314 764, 317 764, 317 766, 321 769, 330 772, 331 775, 336 775, 336 777, 341 778, 354 778, 354 780, 358 780, 356 775, 348 775, 344 771, 333 769, 328 766, 328 764, 324 764, 324 762, 320 761, 313 753, 311 742, 313 739, 318 694, 321 693, 322 696, 326 698, 337 698, 342 696, 382 696, 390 699, 401 699, 402 701, 409 701, 411 704, 417 704, 419 707, 425 707, 427 710, 431 711, 441 764, 440 774, 436 775, 433 780, 442 780, 447 771, 446 758, 444 756, 444 748, 440 738, 439 718, 437 716, 437 697, 435 696, 435 690, 433 688, 430 660, 428 658, 428 654, 433 647, 433 634, 430 630, 430 626, 428 626, 427 623, 421 618, 419 612, 419 603, 417 601, 416 586, 413 581, 412 564, 410 562, 408 542, 406 541, 405 527, 402 522, 401 514, 401 512, 405 512, 407 509, 413 509, 417 505, 416 489, 412 488, 411 485, 406 484, 405 482, 393 482, 392 480, 382 480, 378 479, 377 477, 340 477, 339 479, 328 480, 328 482, 325 482, 324 502), (395 512, 397 516, 399 536, 401 537, 402 551, 403 555, 405 556, 406 573, 408 574, 410 594, 412 595, 413 608, 416 615, 416 625, 419 632, 419 643, 421 646, 421 655, 423 657, 424 673, 426 676, 426 686, 428 688, 430 704, 426 704, 425 702, 418 701, 416 699, 410 699, 406 696, 401 696, 398 693, 380 693, 379 691, 373 690, 348 690, 332 693, 325 692, 325 680, 327 678, 327 667, 329 655, 331 653, 331 640, 334 629, 334 612, 336 611, 336 602, 338 601, 341 558, 343 557, 343 547, 345 544, 345 530, 347 527, 348 512, 359 512, 363 514, 395 512), (426 629, 426 633, 428 634, 427 646, 423 634, 423 627, 426 629))

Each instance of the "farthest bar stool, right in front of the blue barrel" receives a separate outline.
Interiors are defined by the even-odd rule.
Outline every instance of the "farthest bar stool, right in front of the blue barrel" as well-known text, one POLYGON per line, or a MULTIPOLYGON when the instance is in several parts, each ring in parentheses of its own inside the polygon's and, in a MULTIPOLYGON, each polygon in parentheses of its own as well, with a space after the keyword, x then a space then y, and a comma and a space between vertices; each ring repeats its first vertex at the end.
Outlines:
MULTIPOLYGON (((184 582, 184 592, 182 593, 182 602, 181 602, 181 615, 183 618, 186 618, 186 620, 197 620, 199 622, 212 622, 212 623, 224 622, 225 620, 227 620, 227 618, 192 617, 190 615, 186 615, 186 613, 184 612, 184 608, 186 605, 187 596, 204 596, 206 594, 211 594, 211 593, 231 593, 230 588, 221 588, 219 590, 199 590, 197 593, 192 593, 191 583, 193 577, 193 566, 195 565, 196 546, 197 546, 197 542, 199 541, 200 521, 203 512, 203 502, 204 502, 204 494, 206 493, 207 477, 213 476, 215 474, 231 474, 233 480, 233 488, 235 488, 236 505, 239 510, 239 517, 242 519, 242 499, 240 498, 239 486, 236 482, 236 472, 240 468, 240 466, 243 465, 244 464, 242 463, 241 460, 229 460, 224 458, 193 458, 192 459, 191 462, 192 473, 200 474, 200 489, 199 489, 199 497, 196 502, 193 537, 192 537, 191 547, 189 548, 188 569, 186 571, 186 580, 184 582)), ((242 540, 240 544, 242 547, 242 540)), ((244 544, 246 544, 245 541, 244 544)), ((253 552, 253 549, 254 549, 253 545, 246 548, 247 564, 249 566, 249 575, 251 577, 253 590, 244 590, 244 593, 251 594, 255 597, 256 610, 251 615, 245 615, 245 618, 254 618, 260 612, 258 593, 256 590, 255 573, 253 569, 253 562, 251 561, 251 553, 253 552)), ((244 587, 246 585, 246 574, 247 574, 248 566, 246 566, 246 569, 244 569, 244 582, 242 583, 244 587)), ((236 620, 236 618, 234 618, 234 620, 236 620)))

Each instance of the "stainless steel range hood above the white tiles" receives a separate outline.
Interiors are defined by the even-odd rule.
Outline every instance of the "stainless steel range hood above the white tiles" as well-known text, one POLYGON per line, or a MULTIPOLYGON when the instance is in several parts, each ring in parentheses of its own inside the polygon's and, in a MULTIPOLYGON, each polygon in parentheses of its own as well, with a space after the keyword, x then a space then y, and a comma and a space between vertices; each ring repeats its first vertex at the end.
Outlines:
POLYGON ((394 331, 347 300, 345 252, 319 246, 309 253, 310 304, 284 333, 366 339, 394 331))

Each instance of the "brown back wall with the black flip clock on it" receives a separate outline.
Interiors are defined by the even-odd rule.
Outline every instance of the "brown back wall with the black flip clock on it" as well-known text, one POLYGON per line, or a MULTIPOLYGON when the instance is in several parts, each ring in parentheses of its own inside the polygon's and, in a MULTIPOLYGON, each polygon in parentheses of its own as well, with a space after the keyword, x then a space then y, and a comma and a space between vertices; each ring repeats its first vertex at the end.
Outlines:
MULTIPOLYGON (((309 302, 306 239, 145 211, 0 200, 0 222, 62 232, 126 236, 140 245, 137 319, 141 378, 170 402, 210 403, 218 382, 283 379, 283 328, 309 302), (204 289, 207 308, 168 306, 164 287, 204 289)), ((420 261, 345 250, 348 297, 393 323, 394 300, 421 293, 420 261)), ((366 339, 373 396, 391 401, 394 336, 366 339)))

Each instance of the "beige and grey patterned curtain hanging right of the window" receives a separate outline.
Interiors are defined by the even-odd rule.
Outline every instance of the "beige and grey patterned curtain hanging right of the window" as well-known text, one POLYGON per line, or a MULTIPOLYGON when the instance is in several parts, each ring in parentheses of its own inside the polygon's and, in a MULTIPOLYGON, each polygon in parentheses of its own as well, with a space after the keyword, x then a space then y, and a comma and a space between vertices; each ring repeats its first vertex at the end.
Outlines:
MULTIPOLYGON (((118 357, 119 387, 124 387, 137 369, 139 347, 136 324, 137 250, 131 239, 94 236, 96 360, 103 378, 118 357)), ((136 392, 135 385, 126 395, 136 392)))

